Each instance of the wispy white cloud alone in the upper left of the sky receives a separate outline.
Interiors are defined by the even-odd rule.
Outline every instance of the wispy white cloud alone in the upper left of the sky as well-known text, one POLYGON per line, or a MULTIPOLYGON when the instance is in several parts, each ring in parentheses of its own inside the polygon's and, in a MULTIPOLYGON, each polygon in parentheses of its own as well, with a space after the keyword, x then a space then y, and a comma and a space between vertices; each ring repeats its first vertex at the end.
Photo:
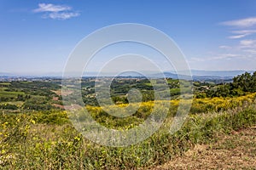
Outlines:
POLYGON ((32 10, 34 13, 44 13, 42 18, 53 20, 67 20, 79 16, 79 12, 72 11, 67 5, 54 5, 52 3, 39 3, 38 8, 32 10))

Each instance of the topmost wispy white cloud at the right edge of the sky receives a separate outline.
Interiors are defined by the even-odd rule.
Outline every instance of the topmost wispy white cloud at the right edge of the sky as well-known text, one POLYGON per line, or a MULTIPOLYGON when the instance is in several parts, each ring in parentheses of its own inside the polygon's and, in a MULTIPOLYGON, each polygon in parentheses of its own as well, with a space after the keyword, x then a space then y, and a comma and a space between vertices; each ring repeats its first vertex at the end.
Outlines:
POLYGON ((256 26, 256 17, 250 17, 246 19, 241 20, 229 20, 220 23, 224 26, 236 26, 236 27, 250 27, 250 26, 256 26))

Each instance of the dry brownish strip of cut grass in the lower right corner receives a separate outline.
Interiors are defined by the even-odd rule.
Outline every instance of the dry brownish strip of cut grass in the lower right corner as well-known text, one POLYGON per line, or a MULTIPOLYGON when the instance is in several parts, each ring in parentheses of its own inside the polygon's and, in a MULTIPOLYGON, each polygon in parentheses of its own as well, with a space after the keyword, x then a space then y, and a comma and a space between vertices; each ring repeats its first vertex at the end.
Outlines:
POLYGON ((216 144, 195 145, 153 169, 256 169, 256 127, 221 136, 216 144))

